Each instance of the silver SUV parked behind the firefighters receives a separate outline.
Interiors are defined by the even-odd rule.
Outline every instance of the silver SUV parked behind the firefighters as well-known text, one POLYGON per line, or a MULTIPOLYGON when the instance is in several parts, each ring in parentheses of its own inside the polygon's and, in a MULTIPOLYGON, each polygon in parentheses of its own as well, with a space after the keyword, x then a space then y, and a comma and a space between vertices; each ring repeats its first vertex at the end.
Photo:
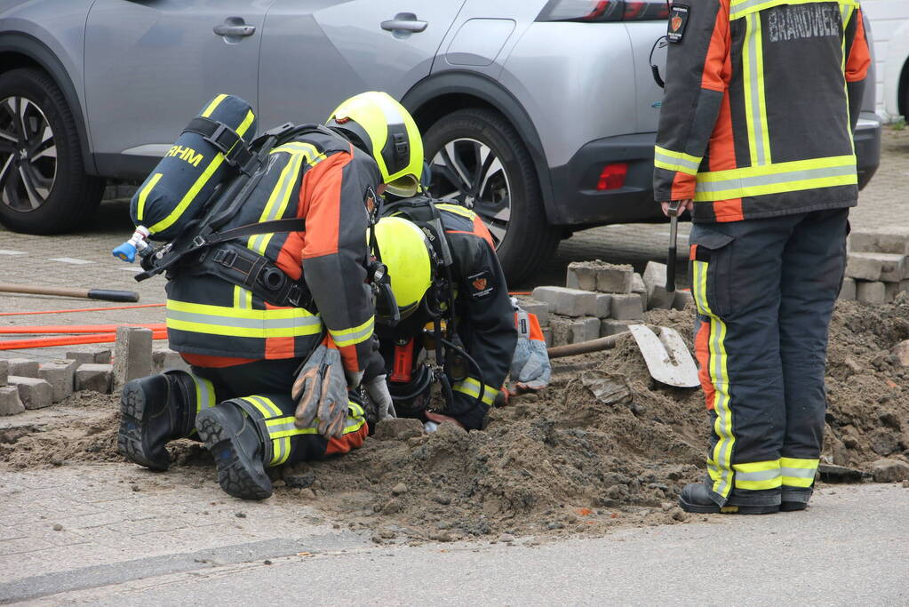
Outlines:
MULTIPOLYGON (((648 56, 666 10, 665 0, 0 0, 0 222, 74 228, 105 178, 145 178, 218 93, 257 107, 265 129, 321 122, 345 97, 380 89, 425 134, 433 193, 483 216, 520 281, 578 227, 658 217, 662 92, 648 56)), ((879 125, 863 124, 867 180, 879 125)))

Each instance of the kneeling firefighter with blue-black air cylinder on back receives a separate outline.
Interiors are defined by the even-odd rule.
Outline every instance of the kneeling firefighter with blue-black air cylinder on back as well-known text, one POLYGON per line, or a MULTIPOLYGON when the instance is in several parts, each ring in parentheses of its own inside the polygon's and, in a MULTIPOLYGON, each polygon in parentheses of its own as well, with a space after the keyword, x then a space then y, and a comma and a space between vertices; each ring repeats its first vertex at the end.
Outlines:
POLYGON ((216 98, 136 193, 134 222, 149 224, 136 234, 174 238, 140 245, 138 278, 166 270, 168 339, 192 373, 125 385, 118 448, 166 470, 165 444, 197 437, 225 492, 264 499, 266 467, 347 453, 367 435, 353 396, 379 357, 365 234, 385 188, 415 193, 423 144, 384 93, 345 101, 325 126, 285 125, 248 144, 251 116, 242 100, 216 98), (205 149, 214 159, 193 164, 205 149), (196 204, 225 165, 231 180, 196 204))

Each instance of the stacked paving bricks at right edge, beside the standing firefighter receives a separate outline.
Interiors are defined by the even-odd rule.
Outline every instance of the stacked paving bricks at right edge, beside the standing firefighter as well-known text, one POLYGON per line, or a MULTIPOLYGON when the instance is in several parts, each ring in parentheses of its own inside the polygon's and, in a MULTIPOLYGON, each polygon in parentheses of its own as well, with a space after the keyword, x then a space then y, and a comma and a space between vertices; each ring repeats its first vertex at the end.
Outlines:
POLYGON ((840 299, 888 303, 904 291, 909 291, 909 228, 853 232, 840 299))

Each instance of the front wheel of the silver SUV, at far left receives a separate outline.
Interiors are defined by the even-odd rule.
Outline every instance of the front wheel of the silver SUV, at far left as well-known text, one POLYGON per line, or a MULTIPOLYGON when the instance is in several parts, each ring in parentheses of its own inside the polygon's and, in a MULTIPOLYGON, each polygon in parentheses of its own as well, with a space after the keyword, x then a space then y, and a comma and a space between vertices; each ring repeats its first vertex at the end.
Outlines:
POLYGON ((35 69, 0 75, 0 223, 64 232, 91 218, 104 184, 85 174, 75 120, 54 81, 35 69))

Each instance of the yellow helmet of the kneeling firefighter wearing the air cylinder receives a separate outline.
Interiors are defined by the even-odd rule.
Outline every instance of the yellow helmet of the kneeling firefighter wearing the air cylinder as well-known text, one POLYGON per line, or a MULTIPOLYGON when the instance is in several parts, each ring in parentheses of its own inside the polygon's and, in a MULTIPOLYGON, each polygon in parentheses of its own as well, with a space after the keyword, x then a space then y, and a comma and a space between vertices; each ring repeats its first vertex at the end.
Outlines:
POLYGON ((409 198, 423 173, 423 139, 414 118, 387 93, 351 97, 325 123, 375 158, 388 192, 409 198))

